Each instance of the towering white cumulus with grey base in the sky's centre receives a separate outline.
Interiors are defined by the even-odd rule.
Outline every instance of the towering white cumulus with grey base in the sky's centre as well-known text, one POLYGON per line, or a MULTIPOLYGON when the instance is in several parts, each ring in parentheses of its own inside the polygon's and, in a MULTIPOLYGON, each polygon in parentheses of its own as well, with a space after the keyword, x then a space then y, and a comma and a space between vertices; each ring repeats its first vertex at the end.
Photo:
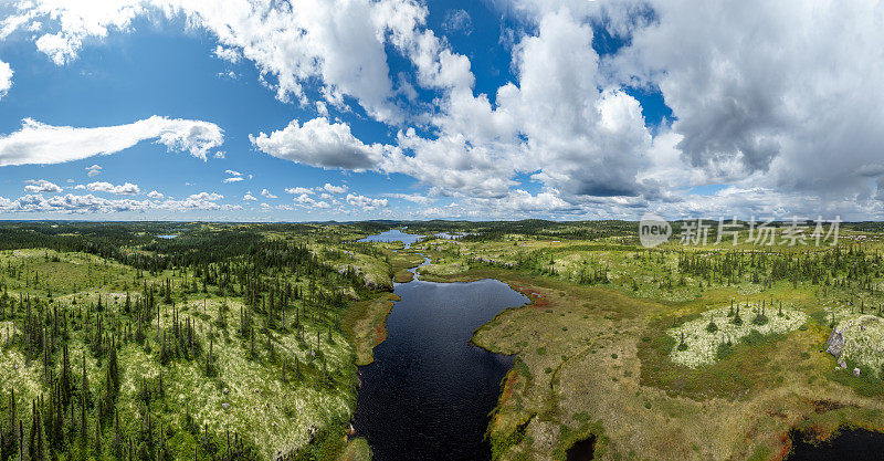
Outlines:
POLYGON ((497 90, 495 104, 473 94, 469 60, 438 45, 430 53, 436 77, 423 78, 424 85, 448 83, 431 118, 435 136, 400 133, 402 151, 387 155, 381 169, 472 197, 506 197, 519 172, 567 196, 641 193, 636 175, 652 136, 638 101, 600 75, 592 38, 592 28, 569 10, 544 13, 537 34, 516 43, 517 80, 497 90), (453 63, 442 71, 449 61, 464 62, 462 76, 454 77, 453 63))

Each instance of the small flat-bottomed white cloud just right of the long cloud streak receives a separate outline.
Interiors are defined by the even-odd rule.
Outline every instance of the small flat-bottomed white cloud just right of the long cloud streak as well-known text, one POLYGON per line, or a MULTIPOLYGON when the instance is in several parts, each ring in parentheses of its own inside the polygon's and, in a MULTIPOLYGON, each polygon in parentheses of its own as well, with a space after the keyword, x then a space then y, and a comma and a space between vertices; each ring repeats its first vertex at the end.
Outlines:
POLYGON ((345 168, 356 171, 373 169, 389 146, 366 145, 345 123, 329 123, 325 117, 299 125, 292 121, 282 130, 249 136, 261 151, 294 163, 322 168, 345 168))

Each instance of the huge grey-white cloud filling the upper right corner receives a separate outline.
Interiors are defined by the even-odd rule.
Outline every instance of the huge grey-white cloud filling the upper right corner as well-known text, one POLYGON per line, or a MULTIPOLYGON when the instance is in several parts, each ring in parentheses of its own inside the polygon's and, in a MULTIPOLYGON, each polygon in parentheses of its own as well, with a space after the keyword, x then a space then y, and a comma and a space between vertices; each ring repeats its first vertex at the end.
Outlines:
POLYGON ((881 4, 652 8, 657 21, 634 31, 614 65, 660 88, 691 166, 823 197, 867 193, 867 181, 882 177, 881 4))

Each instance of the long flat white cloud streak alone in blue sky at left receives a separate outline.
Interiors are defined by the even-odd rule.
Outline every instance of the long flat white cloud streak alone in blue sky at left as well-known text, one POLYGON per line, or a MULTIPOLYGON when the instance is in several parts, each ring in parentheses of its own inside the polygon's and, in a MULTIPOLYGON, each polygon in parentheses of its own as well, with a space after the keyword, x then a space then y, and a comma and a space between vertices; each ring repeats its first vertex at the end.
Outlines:
POLYGON ((114 154, 146 139, 204 160, 209 149, 221 145, 223 135, 209 122, 159 116, 97 128, 51 126, 25 118, 21 129, 0 136, 0 166, 80 160, 114 154))

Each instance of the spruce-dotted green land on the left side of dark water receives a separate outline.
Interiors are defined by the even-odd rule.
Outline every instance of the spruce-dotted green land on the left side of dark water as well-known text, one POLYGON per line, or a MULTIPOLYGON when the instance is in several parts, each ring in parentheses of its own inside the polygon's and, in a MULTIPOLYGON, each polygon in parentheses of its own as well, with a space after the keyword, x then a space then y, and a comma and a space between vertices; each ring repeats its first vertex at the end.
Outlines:
POLYGON ((0 459, 370 459, 344 443, 350 305, 386 300, 392 266, 359 237, 0 224, 0 459))

